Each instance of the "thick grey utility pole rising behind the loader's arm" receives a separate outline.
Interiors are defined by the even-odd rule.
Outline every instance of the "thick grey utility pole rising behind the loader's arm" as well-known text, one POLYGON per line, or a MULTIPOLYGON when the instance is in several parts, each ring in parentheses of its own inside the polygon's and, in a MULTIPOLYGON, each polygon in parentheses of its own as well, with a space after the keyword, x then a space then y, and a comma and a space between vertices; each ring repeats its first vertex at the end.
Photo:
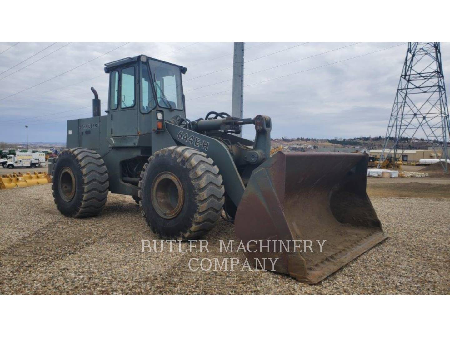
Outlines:
MULTIPOLYGON (((244 106, 244 42, 234 42, 233 56, 233 97, 231 115, 243 118, 244 106)), ((242 137, 242 130, 239 134, 242 137)))

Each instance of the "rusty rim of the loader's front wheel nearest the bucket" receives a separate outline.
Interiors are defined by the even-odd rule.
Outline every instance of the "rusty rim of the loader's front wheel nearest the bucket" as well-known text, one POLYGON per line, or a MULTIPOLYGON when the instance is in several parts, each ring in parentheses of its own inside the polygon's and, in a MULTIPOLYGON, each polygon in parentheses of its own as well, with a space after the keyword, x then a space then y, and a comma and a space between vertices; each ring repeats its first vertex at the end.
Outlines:
POLYGON ((159 216, 173 219, 180 213, 183 201, 180 179, 171 172, 159 173, 152 184, 152 204, 159 216))

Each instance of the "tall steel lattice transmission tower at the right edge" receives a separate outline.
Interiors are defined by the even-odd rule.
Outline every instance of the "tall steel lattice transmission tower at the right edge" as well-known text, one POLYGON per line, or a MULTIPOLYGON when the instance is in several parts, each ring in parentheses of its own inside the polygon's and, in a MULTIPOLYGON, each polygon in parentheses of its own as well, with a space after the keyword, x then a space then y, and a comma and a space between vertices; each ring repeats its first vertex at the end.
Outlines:
POLYGON ((380 164, 389 156, 393 161, 402 159, 405 137, 422 137, 430 142, 436 158, 446 160, 441 164, 448 172, 450 122, 440 48, 439 42, 408 43, 380 164))

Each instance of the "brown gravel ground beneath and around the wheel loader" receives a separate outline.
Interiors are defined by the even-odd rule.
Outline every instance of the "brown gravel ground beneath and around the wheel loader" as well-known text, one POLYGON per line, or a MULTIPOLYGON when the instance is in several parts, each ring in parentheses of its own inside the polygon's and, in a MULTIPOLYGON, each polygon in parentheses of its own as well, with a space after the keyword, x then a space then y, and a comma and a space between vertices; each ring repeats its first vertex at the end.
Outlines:
POLYGON ((205 238, 211 253, 141 253, 141 240, 158 238, 129 196, 110 194, 99 217, 71 219, 50 184, 3 190, 0 293, 449 294, 450 198, 372 202, 390 238, 309 285, 268 271, 189 270, 193 257, 244 259, 218 253, 219 239, 235 239, 227 222, 205 238))

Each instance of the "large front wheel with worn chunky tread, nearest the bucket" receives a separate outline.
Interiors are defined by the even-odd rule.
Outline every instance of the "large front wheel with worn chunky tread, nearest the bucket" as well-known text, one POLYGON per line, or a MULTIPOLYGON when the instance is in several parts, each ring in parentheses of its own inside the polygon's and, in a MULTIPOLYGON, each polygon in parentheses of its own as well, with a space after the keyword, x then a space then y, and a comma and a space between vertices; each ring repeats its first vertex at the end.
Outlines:
POLYGON ((205 153, 167 147, 148 159, 140 177, 141 212, 162 238, 199 238, 220 218, 225 189, 219 168, 205 153))

